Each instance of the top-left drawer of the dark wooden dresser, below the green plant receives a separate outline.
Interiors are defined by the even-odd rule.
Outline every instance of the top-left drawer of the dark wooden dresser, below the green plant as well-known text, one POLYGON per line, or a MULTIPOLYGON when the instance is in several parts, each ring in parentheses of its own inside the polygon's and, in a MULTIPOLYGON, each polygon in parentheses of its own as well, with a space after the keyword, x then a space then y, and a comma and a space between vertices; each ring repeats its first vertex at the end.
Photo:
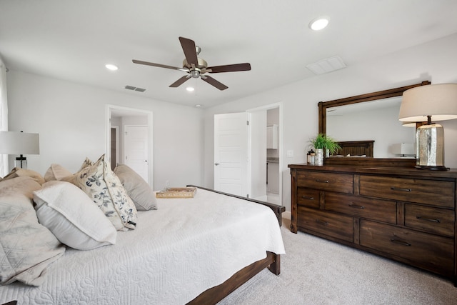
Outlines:
POLYGON ((297 171, 297 186, 352 194, 353 175, 318 171, 297 171))

